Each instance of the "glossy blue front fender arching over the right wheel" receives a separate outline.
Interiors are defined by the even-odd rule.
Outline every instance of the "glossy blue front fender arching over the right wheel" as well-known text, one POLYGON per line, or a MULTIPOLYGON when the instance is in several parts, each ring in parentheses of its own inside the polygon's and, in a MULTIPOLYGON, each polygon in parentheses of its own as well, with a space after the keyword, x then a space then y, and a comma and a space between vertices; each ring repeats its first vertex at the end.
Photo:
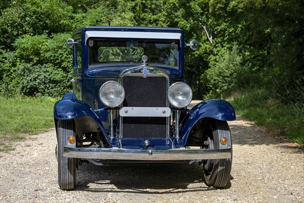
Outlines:
POLYGON ((189 118, 179 130, 184 143, 189 136, 192 127, 202 118, 214 118, 222 121, 236 120, 236 113, 232 105, 223 99, 210 99, 202 101, 191 110, 188 110, 189 118))

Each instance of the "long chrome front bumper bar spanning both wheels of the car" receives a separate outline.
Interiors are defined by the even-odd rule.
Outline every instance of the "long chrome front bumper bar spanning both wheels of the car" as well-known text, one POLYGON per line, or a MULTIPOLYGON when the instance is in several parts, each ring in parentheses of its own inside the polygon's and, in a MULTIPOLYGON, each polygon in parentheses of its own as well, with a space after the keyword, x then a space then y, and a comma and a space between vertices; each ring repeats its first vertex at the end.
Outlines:
POLYGON ((112 148, 74 148, 64 147, 63 156, 84 159, 116 160, 202 160, 230 158, 232 149, 170 149, 133 150, 112 148))

